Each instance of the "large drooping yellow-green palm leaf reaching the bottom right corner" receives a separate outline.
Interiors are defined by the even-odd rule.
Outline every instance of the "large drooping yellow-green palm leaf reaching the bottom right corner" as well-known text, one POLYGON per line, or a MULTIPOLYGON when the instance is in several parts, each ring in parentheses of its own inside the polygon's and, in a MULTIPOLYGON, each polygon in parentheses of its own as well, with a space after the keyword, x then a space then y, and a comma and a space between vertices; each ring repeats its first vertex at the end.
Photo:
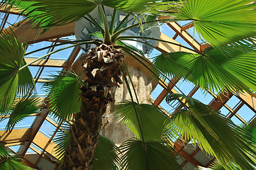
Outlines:
MULTIPOLYGON (((170 94, 167 103, 177 97, 184 98, 180 94, 170 94)), ((197 143, 205 152, 216 157, 226 169, 235 166, 244 170, 253 169, 252 166, 256 165, 255 157, 252 156, 256 155, 255 147, 251 147, 250 137, 245 135, 245 130, 196 99, 189 98, 187 104, 189 111, 182 109, 174 113, 170 130, 176 131, 185 140, 197 143)))

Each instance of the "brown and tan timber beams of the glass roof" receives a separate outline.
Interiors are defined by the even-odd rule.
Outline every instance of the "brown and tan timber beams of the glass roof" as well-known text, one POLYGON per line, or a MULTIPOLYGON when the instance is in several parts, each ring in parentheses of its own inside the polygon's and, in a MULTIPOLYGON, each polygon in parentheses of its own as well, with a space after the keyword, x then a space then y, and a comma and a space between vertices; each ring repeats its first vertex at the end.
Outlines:
MULTIPOLYGON (((1 23, 1 30, 4 30, 4 27, 8 21, 8 18, 10 14, 15 14, 19 15, 20 11, 17 11, 16 9, 13 8, 0 8, 0 12, 4 13, 4 19, 1 23), (9 12, 8 12, 9 11, 9 12)), ((9 28, 6 28, 4 31, 9 31, 9 29, 12 29, 14 33, 16 33, 17 37, 20 38, 21 42, 28 42, 28 44, 33 44, 36 42, 42 42, 42 41, 49 41, 52 42, 53 44, 56 44, 58 42, 68 42, 68 40, 62 39, 62 37, 69 36, 69 35, 74 35, 74 23, 69 23, 66 26, 60 26, 60 27, 54 27, 50 28, 48 32, 44 34, 40 34, 37 32, 35 29, 30 29, 28 28, 29 22, 24 20, 21 21, 20 23, 16 23, 14 26, 11 26, 9 28), (17 26, 17 27, 16 27, 17 26)), ((206 47, 209 45, 207 44, 199 44, 199 42, 196 42, 194 38, 187 33, 187 29, 193 27, 193 23, 188 23, 185 26, 180 26, 179 23, 167 23, 167 26, 169 26, 169 29, 174 30, 175 35, 173 38, 169 38, 167 35, 164 35, 161 33, 160 38, 163 40, 168 40, 170 42, 177 42, 175 39, 177 37, 182 38, 185 40, 194 50, 203 52, 206 47)), ((51 51, 54 50, 50 49, 51 51)), ((173 45, 169 45, 165 42, 160 42, 157 45, 157 50, 160 50, 161 52, 175 52, 175 51, 186 51, 186 49, 182 49, 182 47, 177 47, 173 45)), ((60 67, 62 70, 69 70, 70 67, 72 67, 72 64, 74 60, 76 60, 77 56, 79 55, 80 52, 80 47, 74 47, 72 50, 71 54, 69 55, 67 60, 51 60, 50 56, 48 56, 45 60, 40 60, 38 62, 35 62, 32 66, 39 67, 39 72, 37 77, 35 77, 35 83, 40 83, 45 81, 44 79, 41 79, 40 75, 43 72, 43 69, 46 67, 60 67)), ((26 62, 30 62, 30 58, 26 58, 26 62)), ((172 79, 172 82, 169 82, 167 84, 159 83, 160 86, 162 86, 163 90, 157 91, 159 94, 155 101, 152 101, 152 104, 154 106, 160 106, 162 101, 164 101, 165 97, 169 93, 178 93, 174 89, 174 84, 177 84, 179 82, 179 79, 174 77, 172 79), (167 89, 167 87, 169 89, 167 89)), ((194 86, 194 88, 189 92, 188 96, 193 96, 196 91, 198 91, 200 88, 198 86, 194 86)), ((214 94, 211 91, 208 91, 211 96, 213 96, 213 100, 208 103, 209 106, 212 108, 215 108, 217 110, 220 110, 221 108, 226 108, 228 110, 228 115, 226 115, 227 118, 233 118, 235 116, 238 118, 238 120, 241 121, 241 123, 247 123, 243 118, 241 118, 240 115, 238 115, 238 111, 240 108, 243 106, 248 106, 254 113, 255 115, 251 118, 250 121, 256 121, 256 108, 255 108, 255 103, 256 103, 256 98, 255 96, 252 96, 250 94, 235 94, 230 91, 223 91, 219 96, 214 94), (233 107, 230 108, 227 105, 227 102, 230 100, 231 97, 237 97, 239 99, 239 103, 233 107)), ((43 100, 43 98, 42 98, 43 100)), ((5 130, 0 130, 0 141, 1 142, 6 142, 6 146, 14 146, 14 145, 21 145, 20 149, 18 150, 18 153, 23 157, 28 149, 33 149, 39 157, 35 162, 29 162, 27 159, 23 158, 24 162, 35 169, 38 169, 38 162, 40 162, 40 159, 46 159, 48 162, 51 164, 55 164, 55 169, 58 168, 58 164, 55 160, 58 159, 55 155, 55 146, 56 144, 52 142, 53 137, 56 135, 57 130, 60 129, 60 124, 57 124, 54 120, 52 120, 49 116, 49 111, 47 108, 43 108, 40 114, 38 115, 31 115, 35 116, 35 120, 33 124, 29 128, 21 128, 21 129, 13 129, 11 132, 6 132, 5 130), (40 131, 41 126, 45 121, 48 121, 48 123, 52 124, 55 126, 55 131, 53 132, 51 137, 47 137, 46 135, 43 134, 43 132, 40 131), (33 145, 36 145, 38 148, 35 148, 33 145)), ((191 154, 188 154, 187 152, 184 151, 184 147, 186 147, 187 143, 189 141, 184 141, 183 139, 178 139, 176 142, 173 143, 174 149, 179 152, 180 156, 184 158, 184 161, 182 162, 181 166, 186 166, 186 164, 190 163, 193 166, 209 166, 215 159, 209 159, 207 164, 202 164, 195 158, 196 154, 201 151, 199 147, 196 147, 194 149, 194 152, 191 154)))

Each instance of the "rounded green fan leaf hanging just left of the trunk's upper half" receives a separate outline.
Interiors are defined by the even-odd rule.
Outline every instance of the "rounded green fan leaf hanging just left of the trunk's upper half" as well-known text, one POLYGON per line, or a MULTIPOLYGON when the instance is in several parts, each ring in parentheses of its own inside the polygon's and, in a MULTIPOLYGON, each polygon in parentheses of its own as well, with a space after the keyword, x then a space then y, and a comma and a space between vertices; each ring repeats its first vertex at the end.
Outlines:
POLYGON ((71 120, 74 113, 80 111, 82 105, 79 100, 82 80, 76 74, 65 72, 58 76, 52 76, 50 81, 44 84, 45 91, 49 93, 50 109, 63 120, 71 120))

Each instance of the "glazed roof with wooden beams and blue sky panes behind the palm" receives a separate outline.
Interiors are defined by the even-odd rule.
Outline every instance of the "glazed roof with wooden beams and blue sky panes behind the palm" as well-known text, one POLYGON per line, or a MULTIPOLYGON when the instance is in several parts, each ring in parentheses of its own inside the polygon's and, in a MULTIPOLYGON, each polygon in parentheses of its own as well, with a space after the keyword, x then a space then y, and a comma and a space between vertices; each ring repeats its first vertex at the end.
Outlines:
MULTIPOLYGON (((27 22, 18 23, 19 11, 11 9, 10 13, 6 10, 0 9, 1 12, 1 30, 9 30, 12 28, 18 37, 23 37, 22 42, 28 42, 30 46, 28 51, 35 50, 38 47, 45 47, 48 45, 56 45, 60 42, 71 42, 74 39, 74 23, 66 26, 59 26, 51 28, 48 32, 40 35, 36 30, 27 28, 27 22), (13 24, 13 26, 11 26, 13 24)), ((185 42, 187 46, 192 47, 196 51, 204 51, 207 44, 202 43, 200 39, 195 40, 189 33, 193 32, 193 23, 167 23, 161 27, 161 37, 163 40, 171 42, 185 42), (172 35, 172 36, 171 36, 172 35)), ((51 47, 46 52, 56 50, 57 47, 51 47)), ((161 52, 184 51, 180 47, 174 47, 165 42, 160 42, 157 45, 157 50, 161 52)), ((30 62, 41 55, 43 52, 35 53, 33 56, 26 56, 26 62, 30 62)), ((154 52, 153 52, 154 53, 154 52)), ((61 70, 69 70, 74 61, 82 54, 80 47, 74 47, 69 50, 49 55, 45 60, 35 62, 30 66, 31 72, 35 79, 38 94, 41 99, 45 98, 43 91, 40 91, 42 82, 45 82, 47 77, 52 72, 61 70)), ((199 86, 194 86, 182 79, 172 79, 172 82, 159 83, 152 92, 152 105, 161 106, 165 110, 173 110, 176 103, 168 105, 165 102, 165 97, 168 93, 179 93, 180 91, 174 86, 179 87, 184 94, 192 96, 203 103, 208 104, 212 108, 220 110, 226 118, 233 120, 235 124, 250 123, 256 118, 256 98, 250 94, 239 94, 231 91, 218 92, 208 91, 202 92, 199 86), (172 91, 167 90, 166 86, 172 91)), ((55 152, 55 135, 60 130, 60 124, 52 118, 49 111, 43 108, 39 114, 31 114, 30 117, 23 120, 16 125, 16 128, 7 132, 4 130, 6 122, 1 122, 0 125, 0 140, 6 142, 6 146, 11 147, 15 152, 23 155, 23 160, 35 169, 57 169, 58 157, 55 152)), ((179 162, 183 169, 194 169, 195 166, 209 166, 215 158, 206 157, 204 152, 198 146, 191 145, 189 141, 177 139, 173 142, 174 148, 179 152, 179 162)))

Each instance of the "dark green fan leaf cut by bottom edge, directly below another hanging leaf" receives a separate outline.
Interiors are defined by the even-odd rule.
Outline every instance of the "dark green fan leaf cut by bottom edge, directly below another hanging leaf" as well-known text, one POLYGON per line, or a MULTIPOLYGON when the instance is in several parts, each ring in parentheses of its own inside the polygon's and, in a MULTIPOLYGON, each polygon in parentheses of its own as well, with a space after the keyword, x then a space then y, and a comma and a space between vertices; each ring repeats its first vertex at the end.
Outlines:
POLYGON ((156 140, 128 140, 121 147, 121 167, 133 170, 180 169, 174 149, 156 140))

